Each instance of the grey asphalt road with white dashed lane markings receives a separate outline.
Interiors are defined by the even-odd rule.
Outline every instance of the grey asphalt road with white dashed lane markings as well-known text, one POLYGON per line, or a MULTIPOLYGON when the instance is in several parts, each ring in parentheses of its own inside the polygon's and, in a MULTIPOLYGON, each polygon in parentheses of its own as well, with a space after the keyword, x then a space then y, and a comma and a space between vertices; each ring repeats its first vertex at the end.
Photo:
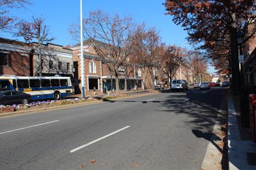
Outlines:
POLYGON ((0 169, 200 169, 225 91, 0 118, 0 169))

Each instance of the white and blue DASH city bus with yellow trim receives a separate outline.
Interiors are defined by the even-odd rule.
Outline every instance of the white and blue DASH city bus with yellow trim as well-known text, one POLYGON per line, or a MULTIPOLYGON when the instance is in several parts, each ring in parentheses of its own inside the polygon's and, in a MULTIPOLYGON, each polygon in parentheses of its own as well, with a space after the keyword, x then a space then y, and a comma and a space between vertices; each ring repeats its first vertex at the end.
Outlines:
POLYGON ((60 100, 72 95, 70 77, 0 76, 0 91, 16 90, 31 95, 31 100, 60 100))

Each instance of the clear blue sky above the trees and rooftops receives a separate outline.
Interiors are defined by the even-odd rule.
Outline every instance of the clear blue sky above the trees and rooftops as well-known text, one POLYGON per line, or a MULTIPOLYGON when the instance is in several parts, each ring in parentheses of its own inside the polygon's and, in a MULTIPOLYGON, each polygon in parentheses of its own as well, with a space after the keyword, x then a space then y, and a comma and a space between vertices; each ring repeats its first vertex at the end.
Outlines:
MULTIPOLYGON (((11 10, 10 14, 25 20, 30 20, 32 16, 43 17, 46 25, 49 26, 50 32, 56 37, 52 43, 63 46, 75 44, 67 29, 71 23, 77 22, 80 17, 80 0, 31 0, 31 2, 33 4, 27 6, 27 9, 11 10)), ((155 26, 166 44, 178 44, 187 49, 192 49, 192 46, 186 40, 186 31, 181 26, 176 26, 172 22, 172 17, 164 15, 166 11, 164 5, 162 5, 163 2, 164 0, 83 0, 83 13, 88 14, 89 11, 100 9, 110 14, 130 15, 138 23, 145 22, 148 27, 155 26)), ((2 33, 0 33, 0 36, 11 39, 17 38, 2 33)))

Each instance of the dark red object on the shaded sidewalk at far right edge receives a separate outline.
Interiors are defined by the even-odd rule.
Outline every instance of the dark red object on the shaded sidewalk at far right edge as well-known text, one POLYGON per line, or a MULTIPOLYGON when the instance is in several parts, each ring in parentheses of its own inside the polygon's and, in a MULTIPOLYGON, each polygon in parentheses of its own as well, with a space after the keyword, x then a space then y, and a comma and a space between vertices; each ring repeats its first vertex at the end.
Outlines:
POLYGON ((249 95, 249 121, 252 141, 256 142, 256 94, 249 95))

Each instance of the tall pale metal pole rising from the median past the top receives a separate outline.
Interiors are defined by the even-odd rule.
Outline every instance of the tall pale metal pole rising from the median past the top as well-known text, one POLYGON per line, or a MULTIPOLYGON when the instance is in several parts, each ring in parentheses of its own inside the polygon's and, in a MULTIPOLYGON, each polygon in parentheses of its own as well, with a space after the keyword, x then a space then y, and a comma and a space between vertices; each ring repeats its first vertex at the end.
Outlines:
POLYGON ((84 53, 83 53, 83 8, 82 8, 82 0, 80 0, 80 44, 81 44, 81 92, 82 99, 85 97, 84 93, 84 53))

